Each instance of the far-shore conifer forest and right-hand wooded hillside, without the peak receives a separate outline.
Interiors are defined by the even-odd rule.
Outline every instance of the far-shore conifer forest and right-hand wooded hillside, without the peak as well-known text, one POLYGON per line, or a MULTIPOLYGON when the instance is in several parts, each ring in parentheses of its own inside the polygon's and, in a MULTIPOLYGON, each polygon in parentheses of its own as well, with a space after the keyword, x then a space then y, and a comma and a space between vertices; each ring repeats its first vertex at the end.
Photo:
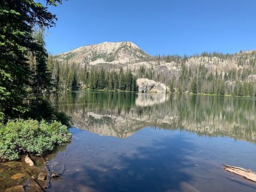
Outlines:
POLYGON ((200 55, 182 57, 157 55, 150 60, 153 63, 124 70, 119 65, 90 66, 60 62, 50 57, 48 66, 56 89, 76 90, 84 87, 91 90, 134 91, 137 78, 148 78, 165 83, 172 93, 227 94, 240 97, 254 97, 256 94, 255 51, 236 54, 203 52, 200 55), (161 65, 170 62, 174 63, 173 70, 166 70, 165 65, 161 65))

